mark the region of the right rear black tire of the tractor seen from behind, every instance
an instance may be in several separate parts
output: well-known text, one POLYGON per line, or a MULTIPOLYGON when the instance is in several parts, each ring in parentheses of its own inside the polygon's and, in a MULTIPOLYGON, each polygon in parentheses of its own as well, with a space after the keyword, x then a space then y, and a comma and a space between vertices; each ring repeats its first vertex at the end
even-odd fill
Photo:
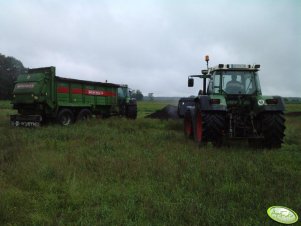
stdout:
POLYGON ((280 148, 283 143, 285 118, 283 112, 267 112, 262 115, 264 146, 280 148))

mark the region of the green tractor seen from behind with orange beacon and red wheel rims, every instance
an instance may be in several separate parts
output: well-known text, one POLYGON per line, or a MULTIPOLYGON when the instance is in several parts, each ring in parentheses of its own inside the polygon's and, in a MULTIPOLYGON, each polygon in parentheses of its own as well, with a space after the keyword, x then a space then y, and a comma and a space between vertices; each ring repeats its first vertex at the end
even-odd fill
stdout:
POLYGON ((221 146, 231 139, 248 139, 256 147, 280 148, 283 143, 284 102, 280 96, 263 96, 258 71, 260 65, 219 64, 202 75, 203 90, 186 107, 184 134, 199 145, 221 146), (207 80, 208 86, 206 85, 207 80), (206 89, 207 88, 207 89, 206 89))

